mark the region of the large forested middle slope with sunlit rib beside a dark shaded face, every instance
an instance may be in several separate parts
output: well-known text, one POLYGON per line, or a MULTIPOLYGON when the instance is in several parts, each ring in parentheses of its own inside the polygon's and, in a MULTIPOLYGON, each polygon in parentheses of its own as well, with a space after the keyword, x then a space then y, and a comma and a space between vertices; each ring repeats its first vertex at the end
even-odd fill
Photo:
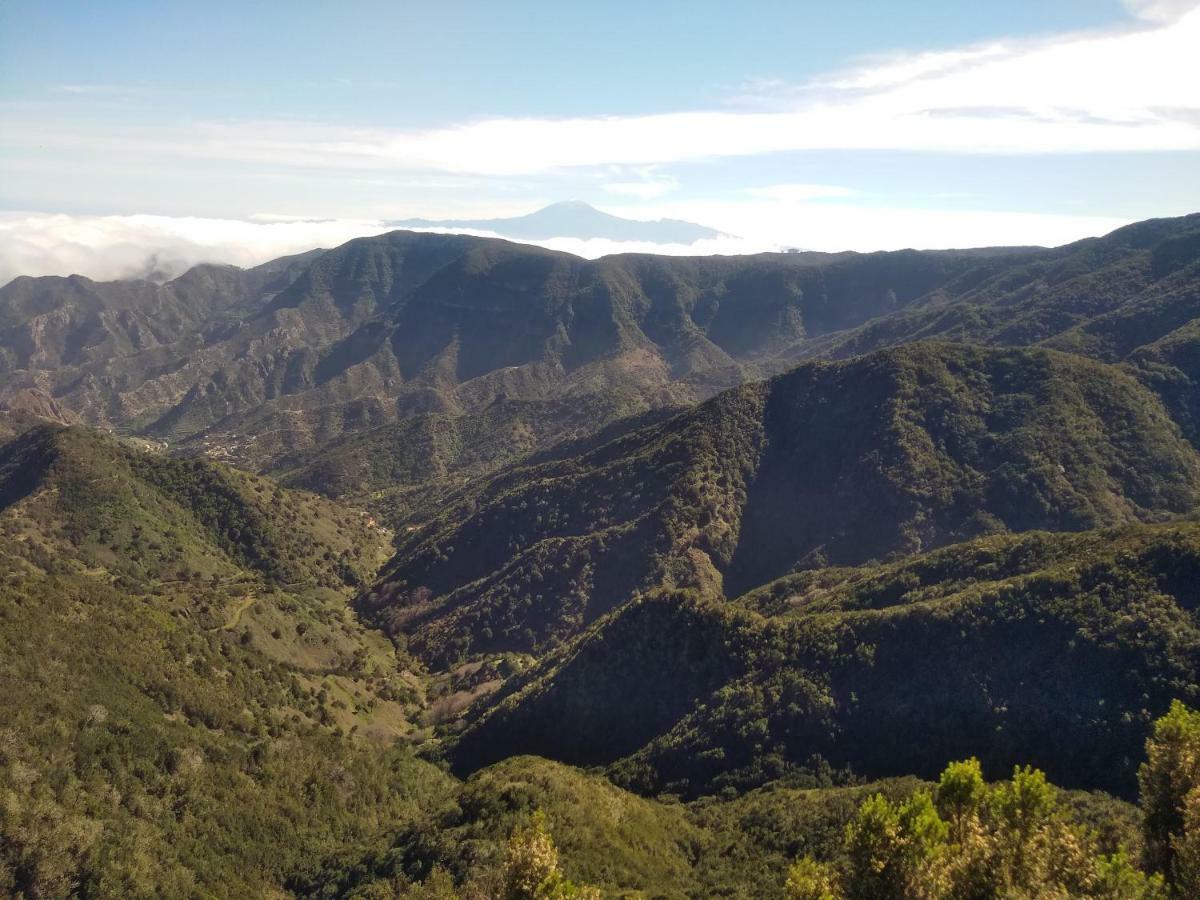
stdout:
POLYGON ((444 665, 552 647, 658 584, 732 595, 794 568, 1198 499, 1200 457, 1124 372, 916 344, 800 366, 468 486, 401 534, 360 608, 444 665))

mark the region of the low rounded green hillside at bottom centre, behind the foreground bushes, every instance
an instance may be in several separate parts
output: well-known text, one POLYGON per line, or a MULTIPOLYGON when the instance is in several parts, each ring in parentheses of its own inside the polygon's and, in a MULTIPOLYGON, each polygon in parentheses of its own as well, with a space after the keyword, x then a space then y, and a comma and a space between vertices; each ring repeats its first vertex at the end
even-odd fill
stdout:
MULTIPOLYGON (((457 896, 493 896, 487 875, 503 865, 505 838, 541 814, 565 874, 598 887, 602 896, 784 898, 797 858, 847 862, 845 828, 865 800, 878 794, 902 803, 929 787, 913 778, 848 786, 791 779, 737 799, 664 802, 568 766, 515 757, 462 782, 443 809, 400 830, 389 844, 330 860, 304 887, 325 895, 446 896, 446 882, 454 881, 462 886, 457 896), (438 871, 445 881, 438 881, 438 871), (403 893, 414 877, 428 893, 403 893)), ((1004 787, 1000 782, 994 790, 1004 787)), ((1096 852, 1124 847, 1138 856, 1140 816, 1132 804, 1061 792, 1057 806, 1062 832, 1082 829, 1084 844, 1096 852)))

